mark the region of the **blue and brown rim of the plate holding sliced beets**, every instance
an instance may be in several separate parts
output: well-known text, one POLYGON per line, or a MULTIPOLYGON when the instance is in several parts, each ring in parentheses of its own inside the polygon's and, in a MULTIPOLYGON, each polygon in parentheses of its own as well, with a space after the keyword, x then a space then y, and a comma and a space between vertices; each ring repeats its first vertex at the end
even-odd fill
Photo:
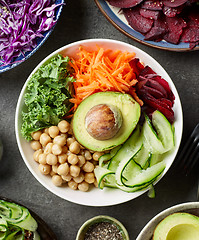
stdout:
MULTIPOLYGON (((106 19, 117 29, 119 30, 121 33, 123 33, 124 35, 126 35, 127 37, 133 39, 134 41, 138 42, 138 43, 141 43, 145 46, 148 46, 148 47, 152 47, 152 48, 156 48, 156 49, 160 49, 160 50, 164 50, 164 51, 171 51, 171 52, 191 52, 191 51, 196 51, 196 50, 199 50, 199 46, 196 46, 194 49, 190 49, 190 48, 180 48, 180 47, 174 47, 174 48, 171 48, 171 47, 164 47, 164 46, 159 46, 159 45, 156 45, 156 44, 153 44, 151 42, 153 41, 145 41, 145 40, 142 40, 142 39, 139 39, 138 37, 136 36, 133 36, 131 33, 129 33, 127 30, 123 29, 122 26, 120 26, 117 22, 118 20, 116 19, 113 19, 105 10, 104 8, 104 4, 107 4, 106 0, 95 0, 95 3, 96 5, 98 6, 99 10, 102 12, 102 14, 106 17, 106 19)), ((107 4, 108 6, 108 4, 107 4)), ((108 8, 110 8, 108 6, 108 8)), ((110 8, 110 11, 112 12, 112 9, 110 8)), ((115 13, 113 13, 115 15, 115 13)), ((115 15, 116 16, 116 15, 115 15)), ((116 16, 117 17, 117 16, 116 16)), ((121 21, 121 20, 120 20, 121 21)), ((122 22, 122 21, 121 21, 122 22)), ((126 24, 125 24, 126 25, 126 24)), ((130 26, 129 26, 130 27, 130 26)), ((132 27, 130 27, 132 28, 132 27)), ((133 28, 132 28, 133 29, 133 28)), ((134 30, 134 29, 133 29, 134 30)), ((136 30, 134 30, 135 32, 137 32, 136 30)), ((171 43, 169 43, 171 44, 171 43)), ((186 43, 184 43, 186 44, 186 43)), ((173 44, 174 45, 174 44, 173 44)), ((178 46, 178 45, 176 45, 178 46)))

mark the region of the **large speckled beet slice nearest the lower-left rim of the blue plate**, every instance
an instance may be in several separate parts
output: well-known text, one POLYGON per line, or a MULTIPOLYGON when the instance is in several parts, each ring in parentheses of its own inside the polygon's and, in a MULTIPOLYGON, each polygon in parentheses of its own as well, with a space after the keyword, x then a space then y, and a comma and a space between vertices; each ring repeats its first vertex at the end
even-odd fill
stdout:
POLYGON ((140 15, 140 7, 123 9, 124 16, 129 25, 140 33, 147 33, 153 26, 153 20, 140 15))

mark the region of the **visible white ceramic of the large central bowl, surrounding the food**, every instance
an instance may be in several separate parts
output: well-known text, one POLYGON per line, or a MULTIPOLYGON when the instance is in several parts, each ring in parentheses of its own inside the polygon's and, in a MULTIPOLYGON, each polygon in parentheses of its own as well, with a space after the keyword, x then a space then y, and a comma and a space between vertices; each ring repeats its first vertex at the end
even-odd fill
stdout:
MULTIPOLYGON (((69 45, 66 45, 49 56, 47 56, 39 65, 33 70, 33 72, 30 74, 30 76, 37 71, 37 69, 46 62, 49 58, 54 56, 55 54, 62 53, 64 55, 73 56, 77 53, 79 46, 85 46, 89 47, 91 50, 96 49, 97 46, 102 46, 105 49, 120 49, 122 51, 129 51, 129 52, 135 52, 136 57, 138 57, 141 62, 143 62, 146 65, 149 65, 157 74, 162 76, 170 85, 176 99, 175 104, 173 107, 173 110, 175 112, 175 134, 176 134, 176 145, 175 149, 166 157, 166 168, 162 174, 162 177, 165 175, 165 173, 170 168, 171 164, 173 163, 175 156, 177 154, 181 137, 182 137, 182 126, 183 126, 183 118, 182 118, 182 107, 180 103, 180 99, 177 93, 177 90, 170 79, 169 75, 166 73, 166 71, 161 67, 161 65, 153 59, 151 56, 149 56, 147 53, 143 52, 142 50, 116 40, 109 40, 109 39, 90 39, 90 40, 83 40, 75 43, 71 43, 69 45)), ((28 81, 30 80, 30 76, 27 79, 26 83, 23 86, 23 89, 20 93, 17 108, 16 108, 16 116, 15 116, 15 131, 16 131, 16 138, 17 138, 17 144, 19 146, 20 153, 23 157, 23 160, 31 173, 35 176, 35 178, 49 191, 53 192, 57 196, 82 205, 87 206, 109 206, 109 205, 115 205, 119 203, 123 203, 126 201, 129 201, 131 199, 134 199, 141 194, 143 194, 144 191, 139 191, 135 193, 127 193, 123 192, 118 189, 111 189, 111 188, 105 188, 104 190, 100 189, 92 189, 90 192, 81 192, 81 191, 74 191, 66 187, 56 187, 53 185, 53 183, 50 180, 50 177, 42 175, 38 170, 38 163, 36 163, 33 160, 33 150, 30 147, 30 143, 28 143, 21 135, 21 110, 24 105, 24 94, 26 90, 26 86, 28 81)))

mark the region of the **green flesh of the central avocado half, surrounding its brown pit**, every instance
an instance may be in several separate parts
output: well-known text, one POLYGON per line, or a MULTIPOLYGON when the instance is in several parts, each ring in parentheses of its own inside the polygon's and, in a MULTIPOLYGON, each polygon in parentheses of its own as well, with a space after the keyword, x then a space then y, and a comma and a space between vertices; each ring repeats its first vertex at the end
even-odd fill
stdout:
MULTIPOLYGON (((83 100, 77 107, 72 120, 73 133, 77 141, 84 147, 93 151, 105 151, 127 140, 139 121, 140 112, 140 105, 129 94, 119 92, 95 93, 83 100), (96 139, 89 134, 86 128, 88 112, 98 105, 107 105, 111 106, 112 109, 118 109, 119 114, 114 114, 122 119, 118 124, 118 131, 109 139, 96 139)), ((92 121, 95 121, 95 118, 92 121)))

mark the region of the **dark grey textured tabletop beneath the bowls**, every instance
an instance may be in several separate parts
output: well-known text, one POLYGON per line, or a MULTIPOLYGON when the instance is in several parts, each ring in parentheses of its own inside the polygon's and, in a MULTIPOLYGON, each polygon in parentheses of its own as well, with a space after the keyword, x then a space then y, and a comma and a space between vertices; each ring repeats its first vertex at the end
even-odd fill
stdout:
MULTIPOLYGON (((181 148, 199 119, 199 51, 175 53, 141 45, 124 36, 101 14, 94 1, 68 0, 47 42, 26 62, 0 74, 0 137, 4 155, 0 163, 0 195, 26 205, 40 215, 59 240, 73 240, 79 227, 95 215, 110 215, 136 239, 144 225, 163 209, 195 201, 197 176, 183 177, 171 168, 156 186, 156 198, 147 194, 112 207, 87 207, 48 192, 24 164, 16 144, 14 117, 21 88, 35 66, 54 50, 77 40, 112 38, 139 47, 154 57, 172 78, 181 98, 184 132, 181 148)), ((89 195, 88 195, 89 197, 89 195)))

